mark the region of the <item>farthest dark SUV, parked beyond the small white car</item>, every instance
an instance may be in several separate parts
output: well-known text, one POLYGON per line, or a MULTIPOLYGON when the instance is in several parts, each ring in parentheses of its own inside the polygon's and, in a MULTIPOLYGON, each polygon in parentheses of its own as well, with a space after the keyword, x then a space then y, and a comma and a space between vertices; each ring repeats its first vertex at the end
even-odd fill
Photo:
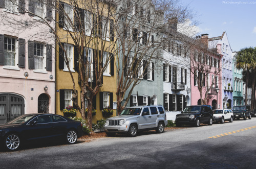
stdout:
POLYGON ((251 108, 248 105, 234 106, 233 114, 234 118, 237 118, 238 120, 240 118, 244 118, 244 120, 246 120, 247 117, 251 119, 251 108))

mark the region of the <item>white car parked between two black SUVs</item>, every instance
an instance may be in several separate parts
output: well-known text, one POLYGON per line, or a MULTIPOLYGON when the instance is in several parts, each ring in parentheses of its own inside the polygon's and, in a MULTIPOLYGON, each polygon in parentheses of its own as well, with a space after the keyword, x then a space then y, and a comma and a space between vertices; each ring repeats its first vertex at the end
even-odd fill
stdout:
POLYGON ((224 123, 225 121, 233 122, 233 112, 230 109, 216 109, 214 110, 214 120, 216 122, 224 123))

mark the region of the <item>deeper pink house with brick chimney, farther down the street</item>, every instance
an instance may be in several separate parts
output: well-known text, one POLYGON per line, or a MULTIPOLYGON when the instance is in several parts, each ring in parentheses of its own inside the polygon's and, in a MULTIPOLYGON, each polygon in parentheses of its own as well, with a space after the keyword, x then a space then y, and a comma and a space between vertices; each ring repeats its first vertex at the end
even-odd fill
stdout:
POLYGON ((208 34, 201 35, 196 41, 202 45, 196 45, 191 52, 191 105, 201 105, 201 99, 206 98, 205 104, 211 105, 212 109, 222 108, 220 46, 209 49, 208 34))

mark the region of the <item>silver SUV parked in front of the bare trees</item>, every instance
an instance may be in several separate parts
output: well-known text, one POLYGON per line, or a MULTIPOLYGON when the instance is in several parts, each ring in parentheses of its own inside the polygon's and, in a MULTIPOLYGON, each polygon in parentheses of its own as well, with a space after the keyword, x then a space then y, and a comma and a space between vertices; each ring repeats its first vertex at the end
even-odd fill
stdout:
POLYGON ((104 131, 108 136, 127 133, 135 137, 141 130, 163 133, 166 125, 166 114, 162 105, 133 106, 125 108, 118 116, 106 119, 104 131))

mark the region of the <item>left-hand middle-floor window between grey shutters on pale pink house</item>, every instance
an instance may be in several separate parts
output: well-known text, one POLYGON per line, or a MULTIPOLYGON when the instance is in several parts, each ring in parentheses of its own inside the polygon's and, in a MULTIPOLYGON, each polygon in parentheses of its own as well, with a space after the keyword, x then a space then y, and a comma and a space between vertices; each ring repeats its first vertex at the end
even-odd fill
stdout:
POLYGON ((4 37, 5 65, 15 66, 16 39, 4 37))

